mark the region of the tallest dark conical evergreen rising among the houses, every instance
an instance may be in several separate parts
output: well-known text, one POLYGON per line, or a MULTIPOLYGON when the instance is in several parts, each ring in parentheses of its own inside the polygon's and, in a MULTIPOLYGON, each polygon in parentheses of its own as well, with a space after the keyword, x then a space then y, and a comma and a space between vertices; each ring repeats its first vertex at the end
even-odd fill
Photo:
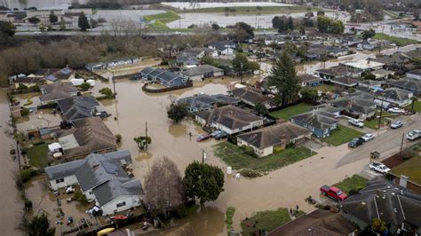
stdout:
POLYGON ((269 76, 269 85, 274 86, 278 90, 276 98, 282 106, 298 99, 300 85, 297 71, 286 51, 283 51, 281 57, 276 61, 274 67, 272 67, 272 75, 269 76))

